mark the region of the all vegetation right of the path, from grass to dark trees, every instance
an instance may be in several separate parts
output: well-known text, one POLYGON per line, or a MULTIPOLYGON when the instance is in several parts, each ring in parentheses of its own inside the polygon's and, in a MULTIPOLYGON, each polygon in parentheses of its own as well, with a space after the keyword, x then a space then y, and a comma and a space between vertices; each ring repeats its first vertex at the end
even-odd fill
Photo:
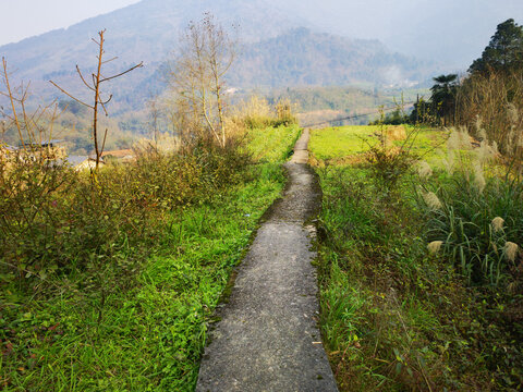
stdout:
POLYGON ((521 390, 522 49, 508 20, 412 113, 313 132, 320 324, 341 391, 521 390))

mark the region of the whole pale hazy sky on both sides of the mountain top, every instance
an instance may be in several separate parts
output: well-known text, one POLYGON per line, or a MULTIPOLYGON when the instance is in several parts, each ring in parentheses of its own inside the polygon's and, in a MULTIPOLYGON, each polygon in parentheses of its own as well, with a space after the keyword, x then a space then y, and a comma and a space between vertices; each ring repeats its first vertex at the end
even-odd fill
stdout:
MULTIPOLYGON (((481 56, 499 23, 512 17, 523 24, 523 0, 265 1, 321 30, 377 38, 402 53, 460 68, 481 56)), ((0 0, 0 10, 9 10, 0 14, 0 46, 135 2, 138 0, 0 0)))

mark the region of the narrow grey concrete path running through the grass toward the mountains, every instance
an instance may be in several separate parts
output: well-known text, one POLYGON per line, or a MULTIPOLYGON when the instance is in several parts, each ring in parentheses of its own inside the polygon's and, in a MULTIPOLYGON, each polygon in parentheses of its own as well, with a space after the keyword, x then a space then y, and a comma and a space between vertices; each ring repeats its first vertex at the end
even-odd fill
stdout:
POLYGON ((308 131, 285 163, 289 184, 238 271, 221 321, 211 332, 197 392, 338 391, 317 328, 317 280, 311 265, 320 204, 307 162, 308 131))

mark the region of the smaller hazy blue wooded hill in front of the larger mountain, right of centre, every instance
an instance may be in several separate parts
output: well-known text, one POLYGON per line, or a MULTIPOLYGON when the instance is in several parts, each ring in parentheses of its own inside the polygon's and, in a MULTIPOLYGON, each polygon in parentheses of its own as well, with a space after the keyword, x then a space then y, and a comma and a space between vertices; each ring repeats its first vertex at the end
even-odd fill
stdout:
POLYGON ((350 39, 305 27, 244 47, 230 75, 243 87, 415 85, 430 77, 434 62, 388 50, 380 41, 350 39))

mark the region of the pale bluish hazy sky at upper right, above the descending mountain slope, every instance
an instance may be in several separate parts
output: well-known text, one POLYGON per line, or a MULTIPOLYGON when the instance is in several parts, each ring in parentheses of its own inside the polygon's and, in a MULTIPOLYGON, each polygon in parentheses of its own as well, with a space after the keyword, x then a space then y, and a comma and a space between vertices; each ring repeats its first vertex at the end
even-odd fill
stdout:
POLYGON ((479 57, 499 23, 512 17, 523 24, 523 0, 275 1, 306 4, 300 9, 308 19, 321 13, 321 29, 378 38, 393 50, 451 66, 469 66, 479 57))

